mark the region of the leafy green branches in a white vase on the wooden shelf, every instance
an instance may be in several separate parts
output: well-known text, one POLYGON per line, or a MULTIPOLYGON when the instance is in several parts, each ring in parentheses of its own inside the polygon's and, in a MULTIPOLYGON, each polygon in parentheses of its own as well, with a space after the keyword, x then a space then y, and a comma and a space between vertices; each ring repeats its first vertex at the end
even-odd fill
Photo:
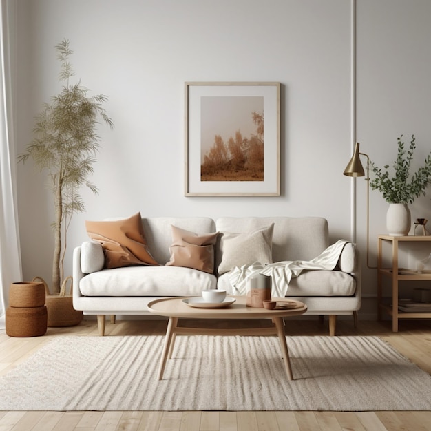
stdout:
POLYGON ((389 165, 383 167, 384 171, 370 160, 370 166, 375 178, 370 181, 370 187, 378 190, 383 199, 390 204, 386 216, 386 226, 390 235, 407 235, 410 231, 410 210, 416 198, 423 195, 431 184, 431 152, 425 158, 423 165, 414 174, 410 174, 410 165, 413 160, 416 138, 412 135, 410 147, 405 149, 401 135, 398 140, 397 159, 393 165, 393 174, 390 175, 389 165))

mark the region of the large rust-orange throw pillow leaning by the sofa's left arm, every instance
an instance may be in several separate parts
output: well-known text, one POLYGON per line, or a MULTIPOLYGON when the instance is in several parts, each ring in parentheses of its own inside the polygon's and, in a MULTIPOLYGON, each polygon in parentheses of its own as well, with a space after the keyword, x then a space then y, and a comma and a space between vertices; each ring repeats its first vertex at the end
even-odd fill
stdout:
POLYGON ((140 213, 121 220, 86 221, 85 227, 88 236, 102 244, 105 268, 158 265, 145 242, 140 213))

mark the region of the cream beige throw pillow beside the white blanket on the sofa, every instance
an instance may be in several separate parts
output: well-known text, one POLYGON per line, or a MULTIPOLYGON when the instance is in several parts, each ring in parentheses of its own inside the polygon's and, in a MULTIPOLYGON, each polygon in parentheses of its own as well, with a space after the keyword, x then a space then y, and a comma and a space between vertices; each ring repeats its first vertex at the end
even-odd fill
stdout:
POLYGON ((231 271, 234 266, 254 262, 273 263, 273 230, 274 224, 271 224, 271 226, 253 232, 221 233, 222 262, 218 266, 218 273, 221 275, 231 271))

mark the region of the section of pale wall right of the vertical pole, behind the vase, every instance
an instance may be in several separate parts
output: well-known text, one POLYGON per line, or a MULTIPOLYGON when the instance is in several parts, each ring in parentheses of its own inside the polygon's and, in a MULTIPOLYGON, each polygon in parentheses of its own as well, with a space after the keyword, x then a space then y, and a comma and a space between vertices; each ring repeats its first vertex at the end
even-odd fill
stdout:
MULTIPOLYGON (((430 17, 428 0, 357 1, 357 140, 361 151, 379 167, 393 165, 401 135, 406 148, 412 134, 417 138, 412 171, 431 150, 430 17)), ((366 182, 358 179, 357 185, 358 204, 365 203, 366 182)), ((409 205, 412 222, 422 217, 431 220, 430 191, 428 188, 427 197, 409 205)), ((370 264, 374 266, 377 235, 386 233, 387 208, 381 194, 370 191, 370 264)), ((364 253, 365 225, 364 207, 358 209, 359 246, 364 253)), ((410 234, 413 232, 411 229, 410 234)), ((412 267, 430 251, 428 246, 412 255, 401 253, 401 264, 412 267)), ((375 270, 364 275, 366 295, 375 295, 375 270)), ((421 283, 421 287, 430 286, 430 282, 421 283)), ((418 285, 410 283, 410 293, 412 286, 418 285)))

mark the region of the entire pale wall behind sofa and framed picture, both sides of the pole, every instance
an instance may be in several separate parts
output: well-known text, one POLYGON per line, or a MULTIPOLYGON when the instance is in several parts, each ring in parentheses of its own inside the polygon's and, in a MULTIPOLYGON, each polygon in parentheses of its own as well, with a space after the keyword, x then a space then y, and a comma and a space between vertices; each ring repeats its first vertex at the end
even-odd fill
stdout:
MULTIPOLYGON (((72 249, 85 220, 157 215, 320 215, 333 239, 350 238, 353 149, 350 124, 351 2, 346 0, 20 0, 17 2, 17 152, 31 139, 41 103, 59 92, 54 45, 70 40, 76 77, 105 106, 115 129, 100 128, 86 212, 70 226, 72 249), (184 196, 184 83, 282 84, 282 196, 184 196)), ((431 29, 426 0, 357 1, 357 137, 372 159, 391 162, 399 134, 430 149, 431 29), (402 66, 402 67, 400 67, 402 66), (388 157, 390 157, 388 159, 388 157)), ((365 202, 364 181, 357 200, 365 202)), ((384 233, 386 204, 372 195, 372 238, 384 233)), ((32 163, 19 166, 25 279, 50 280, 52 197, 32 163)), ((431 219, 429 199, 412 210, 431 219), (416 211, 416 208, 419 208, 416 211)), ((365 255, 365 213, 357 241, 365 255)), ((365 296, 375 273, 365 271, 365 296)), ((364 313, 374 313, 365 300, 364 313)))

